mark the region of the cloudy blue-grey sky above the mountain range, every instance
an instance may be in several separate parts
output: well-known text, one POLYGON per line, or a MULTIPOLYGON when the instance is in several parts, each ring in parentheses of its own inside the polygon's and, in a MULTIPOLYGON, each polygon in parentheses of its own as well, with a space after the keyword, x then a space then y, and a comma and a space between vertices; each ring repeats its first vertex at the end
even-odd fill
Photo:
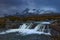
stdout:
POLYGON ((0 0, 0 16, 15 14, 25 8, 60 12, 60 0, 0 0))

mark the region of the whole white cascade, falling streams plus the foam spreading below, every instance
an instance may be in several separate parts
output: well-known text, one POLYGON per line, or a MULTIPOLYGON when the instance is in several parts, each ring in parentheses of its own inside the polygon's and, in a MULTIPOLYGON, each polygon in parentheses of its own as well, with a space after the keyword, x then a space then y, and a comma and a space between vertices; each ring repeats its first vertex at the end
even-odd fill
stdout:
POLYGON ((46 27, 44 24, 39 23, 34 29, 30 29, 30 27, 33 27, 32 24, 33 23, 30 23, 30 25, 26 24, 26 23, 23 23, 23 25, 21 25, 18 29, 6 30, 5 32, 0 32, 0 34, 19 32, 19 34, 22 34, 22 35, 29 35, 29 34, 45 34, 45 35, 50 35, 49 26, 47 26, 48 33, 46 33, 46 32, 44 32, 45 27, 46 27))

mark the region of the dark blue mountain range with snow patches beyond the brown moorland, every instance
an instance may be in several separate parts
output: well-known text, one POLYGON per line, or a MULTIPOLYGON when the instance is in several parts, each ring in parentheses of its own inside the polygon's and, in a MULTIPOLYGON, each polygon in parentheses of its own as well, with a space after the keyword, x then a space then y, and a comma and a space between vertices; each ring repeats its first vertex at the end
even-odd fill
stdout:
POLYGON ((27 16, 54 16, 54 15, 60 15, 60 13, 53 12, 51 10, 36 10, 36 9, 28 9, 26 8, 23 10, 21 13, 16 12, 13 15, 8 15, 8 16, 18 16, 18 17, 27 17, 27 16))

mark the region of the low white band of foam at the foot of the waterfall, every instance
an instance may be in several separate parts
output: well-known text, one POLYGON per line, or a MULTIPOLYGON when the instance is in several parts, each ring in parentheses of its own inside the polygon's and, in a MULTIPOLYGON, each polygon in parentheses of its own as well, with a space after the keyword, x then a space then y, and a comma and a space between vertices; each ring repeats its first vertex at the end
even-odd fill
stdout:
POLYGON ((22 35, 29 35, 29 34, 51 35, 50 33, 39 32, 39 31, 35 31, 34 29, 10 29, 5 32, 0 32, 0 34, 8 34, 8 33, 13 33, 13 32, 18 32, 22 35))

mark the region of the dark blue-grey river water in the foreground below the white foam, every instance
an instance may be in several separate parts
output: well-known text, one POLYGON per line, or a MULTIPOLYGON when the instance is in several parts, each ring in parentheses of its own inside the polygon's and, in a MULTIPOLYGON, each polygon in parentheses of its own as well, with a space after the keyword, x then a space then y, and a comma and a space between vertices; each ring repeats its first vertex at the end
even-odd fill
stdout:
POLYGON ((51 36, 42 35, 42 34, 21 36, 16 32, 16 33, 0 35, 0 40, 51 40, 51 36))

